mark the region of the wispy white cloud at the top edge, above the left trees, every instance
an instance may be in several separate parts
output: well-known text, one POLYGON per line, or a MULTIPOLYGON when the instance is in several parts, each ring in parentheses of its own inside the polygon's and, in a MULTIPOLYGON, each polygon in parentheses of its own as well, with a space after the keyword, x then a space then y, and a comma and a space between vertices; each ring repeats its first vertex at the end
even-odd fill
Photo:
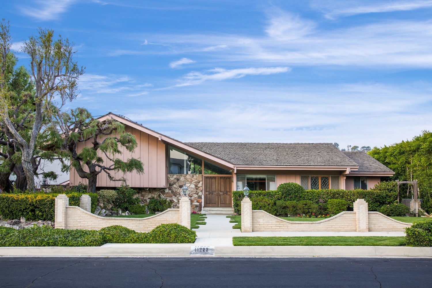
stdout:
POLYGON ((57 19, 76 0, 35 0, 32 6, 19 4, 18 9, 24 15, 36 18, 40 21, 57 19))

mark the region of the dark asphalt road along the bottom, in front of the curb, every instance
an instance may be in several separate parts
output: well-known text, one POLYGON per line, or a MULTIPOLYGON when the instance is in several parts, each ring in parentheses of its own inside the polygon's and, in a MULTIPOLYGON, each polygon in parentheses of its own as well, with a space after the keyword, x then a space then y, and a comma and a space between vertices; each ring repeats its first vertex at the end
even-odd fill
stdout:
POLYGON ((0 258, 0 287, 431 287, 430 258, 0 258))

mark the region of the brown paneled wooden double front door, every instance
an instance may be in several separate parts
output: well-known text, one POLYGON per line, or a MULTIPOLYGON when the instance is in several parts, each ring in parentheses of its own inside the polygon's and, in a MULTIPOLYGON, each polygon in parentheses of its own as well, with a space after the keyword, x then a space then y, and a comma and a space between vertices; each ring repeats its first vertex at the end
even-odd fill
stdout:
POLYGON ((231 176, 204 176, 205 207, 232 207, 231 201, 231 176))

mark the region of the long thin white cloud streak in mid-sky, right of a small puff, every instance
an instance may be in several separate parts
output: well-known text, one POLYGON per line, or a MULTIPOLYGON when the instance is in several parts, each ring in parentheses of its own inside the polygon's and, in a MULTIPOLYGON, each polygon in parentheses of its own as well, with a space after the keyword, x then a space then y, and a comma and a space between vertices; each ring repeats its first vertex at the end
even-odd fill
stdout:
POLYGON ((263 68, 241 68, 226 70, 222 68, 215 68, 212 70, 205 70, 203 72, 187 73, 181 79, 179 84, 175 87, 189 86, 201 84, 204 81, 222 81, 227 79, 241 78, 246 75, 270 75, 276 73, 289 72, 289 67, 263 67, 263 68))

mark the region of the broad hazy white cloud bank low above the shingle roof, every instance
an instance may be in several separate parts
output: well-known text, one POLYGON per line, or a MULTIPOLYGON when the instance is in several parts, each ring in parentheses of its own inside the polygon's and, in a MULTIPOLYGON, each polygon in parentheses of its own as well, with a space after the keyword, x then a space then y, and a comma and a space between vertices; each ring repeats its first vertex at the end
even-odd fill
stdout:
POLYGON ((158 105, 151 114, 148 108, 135 109, 127 117, 184 142, 338 142, 342 148, 391 145, 432 128, 430 85, 235 87, 215 84, 195 95, 191 95, 194 90, 178 92, 172 97, 184 99, 184 106, 158 105), (195 105, 186 95, 193 97, 195 105), (205 102, 212 98, 218 101, 205 102), (206 117, 200 118, 198 127, 195 117, 179 118, 179 110, 206 117), (188 128, 192 126, 194 133, 188 128))

